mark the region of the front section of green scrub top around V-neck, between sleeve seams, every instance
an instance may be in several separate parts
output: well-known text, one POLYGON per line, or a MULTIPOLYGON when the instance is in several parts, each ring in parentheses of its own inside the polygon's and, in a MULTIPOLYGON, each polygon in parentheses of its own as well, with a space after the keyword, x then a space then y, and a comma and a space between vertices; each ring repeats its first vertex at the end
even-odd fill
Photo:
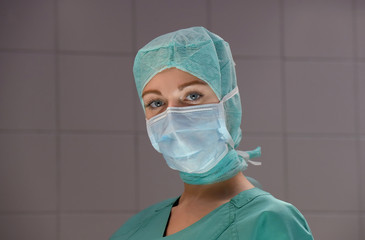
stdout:
POLYGON ((267 194, 257 188, 245 190, 192 225, 180 230, 179 232, 164 237, 163 235, 171 214, 171 209, 174 203, 180 198, 178 197, 171 201, 168 205, 156 209, 155 217, 149 219, 147 226, 140 230, 144 233, 148 233, 147 235, 142 233, 142 235, 149 236, 149 239, 151 240, 217 239, 219 235, 228 229, 234 222, 236 207, 243 206, 245 203, 248 203, 253 198, 263 193, 267 194), (204 229, 204 231, 202 231, 202 229, 204 229), (202 234, 201 238, 199 238, 200 234, 202 234))

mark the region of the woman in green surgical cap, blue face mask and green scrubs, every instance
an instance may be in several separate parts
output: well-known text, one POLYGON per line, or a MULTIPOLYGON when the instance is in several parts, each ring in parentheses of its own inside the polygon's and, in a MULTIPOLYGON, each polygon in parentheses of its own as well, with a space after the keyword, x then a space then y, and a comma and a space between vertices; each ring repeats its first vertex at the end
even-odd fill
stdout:
POLYGON ((227 42, 203 27, 162 35, 134 64, 148 136, 180 172, 181 196, 127 221, 111 240, 310 240, 291 204, 254 187, 243 175, 260 148, 236 150, 241 102, 227 42))

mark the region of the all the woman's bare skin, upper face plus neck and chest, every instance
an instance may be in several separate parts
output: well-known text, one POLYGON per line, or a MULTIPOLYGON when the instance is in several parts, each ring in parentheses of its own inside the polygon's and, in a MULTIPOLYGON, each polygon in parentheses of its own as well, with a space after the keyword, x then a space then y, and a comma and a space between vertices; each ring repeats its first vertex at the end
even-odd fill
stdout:
MULTIPOLYGON (((207 83, 176 68, 156 74, 144 88, 142 98, 147 119, 164 112, 168 107, 219 102, 207 83)), ((240 192, 253 187, 242 172, 226 181, 208 185, 184 183, 179 204, 171 209, 166 235, 183 230, 240 192)))

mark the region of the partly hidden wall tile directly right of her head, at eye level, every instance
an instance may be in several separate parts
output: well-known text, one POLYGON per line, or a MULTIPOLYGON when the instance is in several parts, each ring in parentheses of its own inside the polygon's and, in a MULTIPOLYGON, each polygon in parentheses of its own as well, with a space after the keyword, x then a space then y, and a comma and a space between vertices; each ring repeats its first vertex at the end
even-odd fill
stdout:
POLYGON ((243 131, 282 131, 279 61, 235 60, 243 108, 243 131))

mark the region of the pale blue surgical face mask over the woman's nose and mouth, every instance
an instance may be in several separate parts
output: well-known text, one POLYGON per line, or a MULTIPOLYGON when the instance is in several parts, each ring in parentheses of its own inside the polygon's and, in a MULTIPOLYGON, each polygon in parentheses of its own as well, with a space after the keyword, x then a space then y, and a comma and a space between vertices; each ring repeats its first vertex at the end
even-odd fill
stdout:
POLYGON ((184 173, 205 173, 234 148, 223 103, 237 93, 235 88, 215 104, 169 107, 147 120, 151 143, 170 168, 184 173))

